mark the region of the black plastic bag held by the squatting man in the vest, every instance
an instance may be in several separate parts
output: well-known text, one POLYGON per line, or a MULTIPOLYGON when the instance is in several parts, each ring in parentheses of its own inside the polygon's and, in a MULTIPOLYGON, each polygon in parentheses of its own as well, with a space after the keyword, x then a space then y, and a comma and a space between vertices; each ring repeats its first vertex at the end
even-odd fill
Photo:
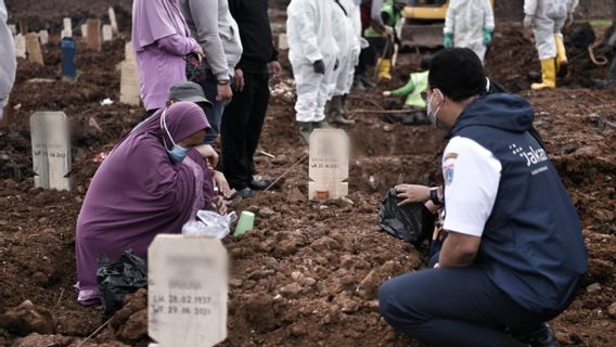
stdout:
POLYGON ((392 235, 419 246, 434 231, 435 216, 422 203, 398 206, 390 189, 378 211, 378 226, 392 235))

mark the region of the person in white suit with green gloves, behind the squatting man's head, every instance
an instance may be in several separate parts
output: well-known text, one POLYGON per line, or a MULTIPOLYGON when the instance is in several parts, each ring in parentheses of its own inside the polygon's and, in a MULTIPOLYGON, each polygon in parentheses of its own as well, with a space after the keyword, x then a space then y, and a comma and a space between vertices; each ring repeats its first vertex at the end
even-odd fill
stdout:
POLYGON ((495 13, 490 0, 451 0, 445 17, 445 48, 471 49, 482 63, 492 42, 495 13))

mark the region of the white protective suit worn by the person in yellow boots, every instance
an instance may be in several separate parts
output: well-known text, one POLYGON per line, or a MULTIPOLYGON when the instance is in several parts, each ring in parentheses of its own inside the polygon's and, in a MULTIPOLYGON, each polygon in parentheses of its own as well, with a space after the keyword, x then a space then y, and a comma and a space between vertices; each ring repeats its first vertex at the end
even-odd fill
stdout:
POLYGON ((532 16, 532 34, 539 60, 556 56, 554 35, 562 37, 561 30, 567 14, 572 14, 577 4, 578 0, 524 0, 524 14, 532 16))

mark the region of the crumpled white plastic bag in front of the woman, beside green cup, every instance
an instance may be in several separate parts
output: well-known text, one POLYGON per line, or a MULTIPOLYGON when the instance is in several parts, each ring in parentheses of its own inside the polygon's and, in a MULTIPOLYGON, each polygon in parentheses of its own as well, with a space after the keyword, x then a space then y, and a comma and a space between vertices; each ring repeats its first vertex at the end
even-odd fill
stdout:
POLYGON ((182 234, 224 239, 231 232, 231 224, 238 220, 235 213, 221 216, 211 210, 196 213, 200 220, 191 220, 182 227, 182 234))

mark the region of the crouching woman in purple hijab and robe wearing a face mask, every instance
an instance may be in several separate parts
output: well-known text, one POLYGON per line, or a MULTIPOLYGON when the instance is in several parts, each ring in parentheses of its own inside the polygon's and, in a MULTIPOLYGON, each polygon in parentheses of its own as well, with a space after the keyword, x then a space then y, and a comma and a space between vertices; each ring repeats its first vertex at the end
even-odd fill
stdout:
POLYGON ((178 102, 124 138, 94 174, 77 219, 79 303, 98 301, 98 258, 116 260, 128 248, 145 258, 159 233, 180 233, 198 209, 210 209, 207 164, 192 149, 209 124, 203 110, 178 102))

